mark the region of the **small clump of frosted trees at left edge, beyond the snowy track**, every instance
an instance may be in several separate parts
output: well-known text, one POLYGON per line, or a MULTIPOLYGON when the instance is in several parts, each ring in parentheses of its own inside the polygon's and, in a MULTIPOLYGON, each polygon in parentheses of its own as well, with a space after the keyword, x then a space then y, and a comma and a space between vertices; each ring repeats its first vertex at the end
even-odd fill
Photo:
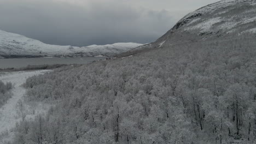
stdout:
POLYGON ((10 82, 4 83, 0 81, 0 108, 3 106, 9 98, 11 98, 10 90, 13 88, 13 84, 10 82))

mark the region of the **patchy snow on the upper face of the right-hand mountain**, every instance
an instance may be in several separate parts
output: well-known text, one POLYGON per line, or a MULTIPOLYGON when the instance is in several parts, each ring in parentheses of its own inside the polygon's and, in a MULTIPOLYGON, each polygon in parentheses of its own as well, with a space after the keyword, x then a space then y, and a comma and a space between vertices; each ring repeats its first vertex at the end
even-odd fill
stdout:
POLYGON ((255 4, 256 1, 252 0, 224 0, 209 4, 184 16, 172 30, 184 29, 187 32, 196 30, 199 34, 234 32, 233 28, 237 30, 242 25, 256 21, 255 4), (232 15, 234 11, 240 13, 232 15))

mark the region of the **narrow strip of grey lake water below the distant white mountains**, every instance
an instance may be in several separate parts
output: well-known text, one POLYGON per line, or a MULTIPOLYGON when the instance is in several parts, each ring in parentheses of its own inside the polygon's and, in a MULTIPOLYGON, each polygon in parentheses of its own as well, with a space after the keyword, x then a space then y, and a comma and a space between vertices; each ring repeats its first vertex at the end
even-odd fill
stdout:
POLYGON ((86 64, 92 61, 106 59, 106 57, 43 57, 43 58, 7 58, 0 59, 0 69, 4 68, 22 68, 27 65, 43 65, 43 64, 86 64))

